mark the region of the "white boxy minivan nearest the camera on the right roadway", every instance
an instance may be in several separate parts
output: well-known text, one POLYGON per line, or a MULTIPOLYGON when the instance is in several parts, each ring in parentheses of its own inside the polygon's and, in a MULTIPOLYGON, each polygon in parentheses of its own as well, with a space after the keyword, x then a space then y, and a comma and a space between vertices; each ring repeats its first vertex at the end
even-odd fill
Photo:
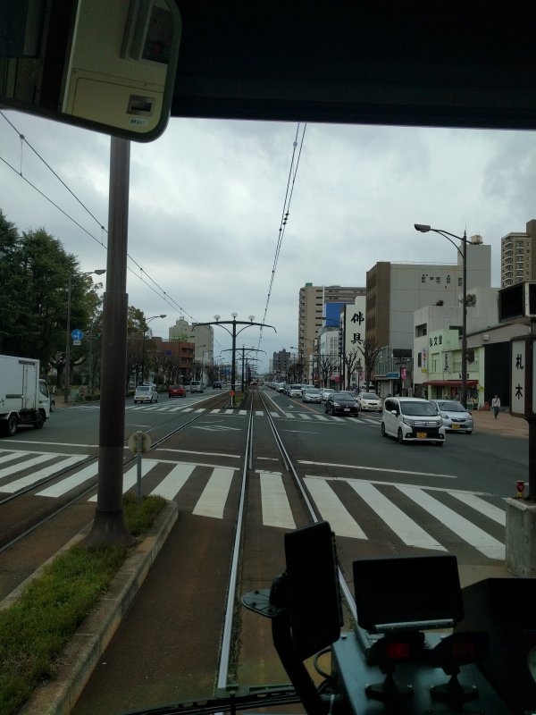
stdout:
POLYGON ((406 442, 445 442, 445 427, 430 400, 416 397, 389 397, 383 401, 381 434, 406 442))

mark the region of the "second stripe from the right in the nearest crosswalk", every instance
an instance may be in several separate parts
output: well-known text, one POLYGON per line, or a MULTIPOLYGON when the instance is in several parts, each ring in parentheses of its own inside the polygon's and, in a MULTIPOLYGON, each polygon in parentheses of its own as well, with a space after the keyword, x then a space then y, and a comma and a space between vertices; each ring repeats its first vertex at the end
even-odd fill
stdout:
POLYGON ((442 524, 447 526, 450 531, 454 532, 456 536, 463 539, 466 543, 469 543, 477 551, 480 551, 484 556, 489 559, 501 559, 504 560, 506 556, 505 544, 500 543, 493 536, 487 534, 478 526, 462 517, 460 514, 456 514, 453 509, 448 509, 434 499, 430 494, 419 489, 418 487, 398 487, 400 492, 406 494, 406 496, 415 501, 422 509, 425 509, 432 517, 436 517, 440 520, 442 524))

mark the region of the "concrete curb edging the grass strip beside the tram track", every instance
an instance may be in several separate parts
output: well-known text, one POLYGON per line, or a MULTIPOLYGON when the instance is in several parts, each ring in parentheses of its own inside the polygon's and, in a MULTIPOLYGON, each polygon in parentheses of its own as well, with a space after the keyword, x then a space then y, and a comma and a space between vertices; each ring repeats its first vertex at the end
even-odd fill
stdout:
MULTIPOLYGON (((177 521, 178 513, 179 508, 174 501, 168 502, 163 508, 143 542, 138 543, 114 576, 110 589, 59 655, 54 680, 38 686, 22 706, 19 715, 69 715, 145 581, 149 568, 177 521)), ((83 534, 75 536, 58 554, 78 543, 82 537, 83 534)), ((29 576, 24 584, 38 576, 40 571, 38 569, 35 575, 29 576)), ((24 584, 2 601, 0 608, 9 606, 24 584), (6 601, 9 602, 6 604, 6 601)))

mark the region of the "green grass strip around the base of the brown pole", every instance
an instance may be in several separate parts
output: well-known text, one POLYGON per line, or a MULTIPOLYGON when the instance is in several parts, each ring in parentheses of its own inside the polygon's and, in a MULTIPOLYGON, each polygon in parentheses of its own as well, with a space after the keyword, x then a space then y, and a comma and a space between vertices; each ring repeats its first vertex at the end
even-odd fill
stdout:
MULTIPOLYGON (((163 509, 161 497, 141 501, 127 494, 124 516, 139 540, 163 509)), ((0 712, 16 715, 43 680, 54 677, 54 660, 95 606, 129 554, 121 544, 78 544, 54 559, 21 599, 0 611, 0 712)))

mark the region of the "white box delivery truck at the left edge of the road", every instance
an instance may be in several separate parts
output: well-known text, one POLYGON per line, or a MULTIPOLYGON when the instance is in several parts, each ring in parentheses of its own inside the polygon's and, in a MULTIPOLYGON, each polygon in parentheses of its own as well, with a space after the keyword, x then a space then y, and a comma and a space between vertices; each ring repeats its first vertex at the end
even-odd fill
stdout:
POLYGON ((49 416, 50 394, 39 378, 39 361, 0 355, 0 433, 13 437, 19 425, 41 429, 49 416))

